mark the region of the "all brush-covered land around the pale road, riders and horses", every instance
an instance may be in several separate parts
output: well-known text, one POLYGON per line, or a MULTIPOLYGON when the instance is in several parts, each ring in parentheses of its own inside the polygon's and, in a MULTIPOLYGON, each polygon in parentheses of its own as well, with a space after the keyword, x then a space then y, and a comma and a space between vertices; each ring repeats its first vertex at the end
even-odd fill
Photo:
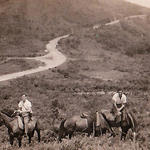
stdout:
MULTIPOLYGON (((28 145, 24 138, 22 150, 150 149, 149 9, 119 0, 0 0, 0 4, 0 74, 36 67, 35 62, 7 57, 43 55, 47 41, 71 33, 58 45, 68 57, 66 63, 0 84, 0 109, 17 109, 21 95, 27 94, 41 123, 41 143, 35 136, 28 145), (147 17, 123 19, 140 14, 147 17), (115 19, 120 23, 104 25, 115 19), (95 24, 102 26, 93 30, 95 24), (127 94, 138 122, 135 144, 130 132, 126 141, 120 141, 117 129, 115 138, 75 135, 62 143, 56 141, 53 119, 110 109, 111 93, 118 88, 127 94)), ((0 149, 18 149, 16 142, 9 145, 4 126, 0 135, 0 149)))

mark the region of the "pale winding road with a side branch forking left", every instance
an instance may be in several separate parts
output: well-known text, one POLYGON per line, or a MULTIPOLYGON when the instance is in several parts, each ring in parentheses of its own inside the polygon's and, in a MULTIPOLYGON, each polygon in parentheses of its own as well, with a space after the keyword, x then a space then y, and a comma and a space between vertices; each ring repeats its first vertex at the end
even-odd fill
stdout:
POLYGON ((51 40, 46 45, 46 49, 48 51, 47 55, 40 56, 40 57, 25 58, 25 59, 33 59, 36 61, 41 61, 41 62, 45 63, 44 66, 40 66, 38 68, 34 68, 34 69, 26 70, 26 71, 2 75, 2 76, 0 76, 0 81, 7 81, 7 80, 22 77, 24 75, 29 75, 29 74, 45 71, 45 70, 48 70, 49 68, 54 68, 54 67, 57 67, 57 66, 63 64, 66 61, 66 57, 57 50, 56 46, 60 39, 67 38, 68 36, 69 35, 65 35, 65 36, 61 36, 61 37, 51 40))

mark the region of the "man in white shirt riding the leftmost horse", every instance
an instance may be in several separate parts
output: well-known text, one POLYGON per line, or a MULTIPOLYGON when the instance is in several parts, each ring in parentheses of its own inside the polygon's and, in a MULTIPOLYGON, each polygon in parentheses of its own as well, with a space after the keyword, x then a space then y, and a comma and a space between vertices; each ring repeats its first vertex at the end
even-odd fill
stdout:
POLYGON ((18 104, 19 110, 18 112, 21 114, 24 120, 24 126, 25 126, 25 135, 28 133, 28 122, 30 121, 32 117, 32 104, 27 99, 26 95, 22 95, 22 99, 18 104))

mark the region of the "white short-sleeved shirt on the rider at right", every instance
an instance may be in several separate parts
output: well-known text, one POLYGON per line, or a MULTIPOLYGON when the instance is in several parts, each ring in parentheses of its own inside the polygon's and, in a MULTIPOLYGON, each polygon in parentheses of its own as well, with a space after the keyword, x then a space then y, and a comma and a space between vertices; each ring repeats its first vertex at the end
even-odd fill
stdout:
POLYGON ((127 97, 125 96, 125 94, 122 94, 122 97, 119 97, 119 93, 114 94, 114 96, 112 97, 112 100, 116 103, 116 104, 125 104, 127 103, 127 97))

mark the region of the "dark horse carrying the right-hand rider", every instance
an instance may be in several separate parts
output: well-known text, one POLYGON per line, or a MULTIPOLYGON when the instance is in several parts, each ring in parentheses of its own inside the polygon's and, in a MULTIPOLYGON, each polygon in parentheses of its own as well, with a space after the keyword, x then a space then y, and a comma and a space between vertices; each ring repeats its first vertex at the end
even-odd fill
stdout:
POLYGON ((111 127, 121 127, 121 140, 125 140, 128 130, 131 129, 133 133, 133 140, 135 141, 137 122, 131 112, 124 109, 121 114, 118 115, 117 111, 111 113, 109 110, 103 110, 102 114, 111 127), (109 116, 113 116, 111 117, 113 119, 110 119, 109 116))

